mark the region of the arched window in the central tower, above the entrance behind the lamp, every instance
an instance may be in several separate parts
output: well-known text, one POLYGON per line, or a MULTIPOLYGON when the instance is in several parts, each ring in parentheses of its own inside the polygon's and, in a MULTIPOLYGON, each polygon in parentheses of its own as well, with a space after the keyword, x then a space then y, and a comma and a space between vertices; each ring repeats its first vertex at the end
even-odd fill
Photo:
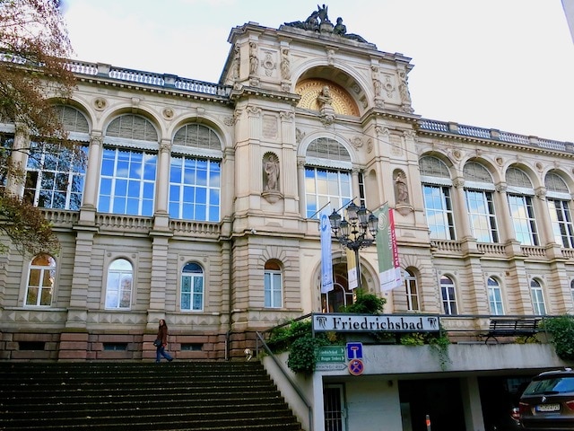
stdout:
POLYGON ((335 139, 319 137, 309 144, 306 163, 307 217, 318 217, 318 210, 329 202, 332 208, 341 208, 351 201, 352 163, 344 145, 335 139))

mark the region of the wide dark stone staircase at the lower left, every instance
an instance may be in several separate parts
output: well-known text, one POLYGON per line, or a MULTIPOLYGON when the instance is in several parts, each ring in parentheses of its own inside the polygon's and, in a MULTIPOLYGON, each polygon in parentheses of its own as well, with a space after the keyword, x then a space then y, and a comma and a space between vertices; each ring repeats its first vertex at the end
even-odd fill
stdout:
POLYGON ((0 362, 0 430, 302 431, 259 362, 0 362))

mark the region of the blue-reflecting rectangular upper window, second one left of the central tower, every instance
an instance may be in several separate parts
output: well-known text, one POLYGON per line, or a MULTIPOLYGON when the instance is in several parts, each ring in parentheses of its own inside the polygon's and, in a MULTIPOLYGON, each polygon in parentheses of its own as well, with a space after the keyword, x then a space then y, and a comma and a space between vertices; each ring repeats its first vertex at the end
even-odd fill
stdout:
POLYGON ((157 154, 104 148, 98 211, 153 216, 156 167, 157 154))

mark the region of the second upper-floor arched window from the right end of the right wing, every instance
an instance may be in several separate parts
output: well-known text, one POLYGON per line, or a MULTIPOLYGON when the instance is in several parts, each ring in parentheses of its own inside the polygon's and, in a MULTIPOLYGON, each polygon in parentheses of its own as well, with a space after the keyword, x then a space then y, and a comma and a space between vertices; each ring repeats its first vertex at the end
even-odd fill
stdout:
POLYGON ((525 172, 509 168, 506 172, 510 219, 517 241, 523 245, 539 245, 536 229, 535 207, 532 198, 535 190, 525 172))

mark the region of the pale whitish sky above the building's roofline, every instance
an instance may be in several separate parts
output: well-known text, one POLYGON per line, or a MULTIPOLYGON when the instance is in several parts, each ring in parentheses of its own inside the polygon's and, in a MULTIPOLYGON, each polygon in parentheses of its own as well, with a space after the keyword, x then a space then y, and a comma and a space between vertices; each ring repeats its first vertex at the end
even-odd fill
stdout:
MULTIPOLYGON (((386 52, 413 58, 416 114, 574 142, 574 44, 561 0, 331 0, 386 52)), ((75 58, 219 81, 233 27, 305 20, 317 2, 67 0, 75 58)))

